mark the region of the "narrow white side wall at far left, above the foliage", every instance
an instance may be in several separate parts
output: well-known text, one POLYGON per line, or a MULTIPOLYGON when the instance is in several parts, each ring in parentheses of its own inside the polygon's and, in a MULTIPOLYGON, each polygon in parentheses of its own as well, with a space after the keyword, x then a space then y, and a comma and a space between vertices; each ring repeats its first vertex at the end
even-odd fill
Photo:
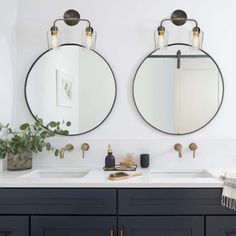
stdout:
POLYGON ((17 55, 16 20, 17 0, 5 1, 4 7, 0 8, 0 122, 4 124, 12 119, 13 80, 17 55))

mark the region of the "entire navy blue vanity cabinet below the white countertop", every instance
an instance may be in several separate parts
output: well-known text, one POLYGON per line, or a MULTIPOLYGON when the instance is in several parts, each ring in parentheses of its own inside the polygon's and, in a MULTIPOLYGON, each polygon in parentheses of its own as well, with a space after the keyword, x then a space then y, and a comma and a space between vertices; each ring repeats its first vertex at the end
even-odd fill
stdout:
POLYGON ((0 236, 236 236, 220 188, 0 188, 0 236))

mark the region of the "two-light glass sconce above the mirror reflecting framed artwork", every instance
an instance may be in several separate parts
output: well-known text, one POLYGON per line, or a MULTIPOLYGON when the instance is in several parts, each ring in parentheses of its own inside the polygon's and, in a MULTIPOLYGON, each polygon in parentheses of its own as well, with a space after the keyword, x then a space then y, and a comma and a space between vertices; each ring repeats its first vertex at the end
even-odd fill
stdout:
POLYGON ((85 31, 82 32, 82 45, 88 49, 95 49, 95 43, 97 38, 97 33, 91 27, 90 21, 88 19, 81 19, 79 12, 70 9, 64 13, 62 19, 56 19, 53 22, 53 26, 48 32, 48 47, 55 49, 61 45, 61 33, 56 26, 58 21, 64 21, 69 26, 77 25, 81 21, 87 22, 88 26, 85 31))

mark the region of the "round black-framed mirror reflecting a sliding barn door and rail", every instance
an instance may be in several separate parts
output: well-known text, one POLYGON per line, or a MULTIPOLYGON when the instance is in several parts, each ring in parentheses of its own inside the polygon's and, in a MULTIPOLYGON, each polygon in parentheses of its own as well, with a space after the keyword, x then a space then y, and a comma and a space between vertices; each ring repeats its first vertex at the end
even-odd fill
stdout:
POLYGON ((206 126, 219 111, 223 94, 216 62, 187 44, 172 44, 149 54, 133 82, 142 118, 168 134, 189 134, 206 126))

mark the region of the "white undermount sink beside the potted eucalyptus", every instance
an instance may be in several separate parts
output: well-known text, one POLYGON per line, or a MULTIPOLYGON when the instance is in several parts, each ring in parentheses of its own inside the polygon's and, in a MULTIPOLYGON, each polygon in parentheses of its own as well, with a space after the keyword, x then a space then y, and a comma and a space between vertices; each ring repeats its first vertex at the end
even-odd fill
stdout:
POLYGON ((20 176, 20 178, 83 178, 90 170, 88 169, 38 169, 20 176))

